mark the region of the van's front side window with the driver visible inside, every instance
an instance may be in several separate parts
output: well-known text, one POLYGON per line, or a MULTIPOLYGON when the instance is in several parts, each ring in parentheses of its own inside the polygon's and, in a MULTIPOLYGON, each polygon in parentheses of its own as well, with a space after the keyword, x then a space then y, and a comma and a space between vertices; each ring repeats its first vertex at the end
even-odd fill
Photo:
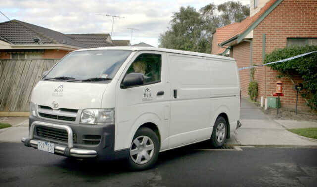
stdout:
POLYGON ((127 74, 141 73, 144 76, 144 84, 153 84, 161 80, 161 55, 141 54, 129 67, 127 74))

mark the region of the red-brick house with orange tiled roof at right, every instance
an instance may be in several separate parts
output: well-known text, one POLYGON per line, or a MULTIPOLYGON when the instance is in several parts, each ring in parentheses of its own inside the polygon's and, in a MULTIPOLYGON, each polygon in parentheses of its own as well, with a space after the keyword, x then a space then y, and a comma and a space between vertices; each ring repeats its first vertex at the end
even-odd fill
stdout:
MULTIPOLYGON (((265 54, 276 48, 317 44, 317 0, 250 0, 250 16, 236 26, 230 34, 217 29, 212 54, 224 55, 223 52, 230 49, 230 57, 236 59, 238 68, 262 64, 265 54), (219 41, 217 36, 221 35, 226 37, 219 41)), ((241 94, 248 97, 251 71, 241 70, 239 74, 241 94)), ((266 66, 256 68, 254 80, 258 82, 258 100, 261 96, 270 97, 276 90, 276 81, 281 80, 285 94, 281 97, 281 105, 294 108, 296 92, 292 85, 293 82, 301 83, 302 79, 296 76, 292 80, 277 79, 278 74, 266 66)), ((298 108, 309 110, 301 97, 298 108)))

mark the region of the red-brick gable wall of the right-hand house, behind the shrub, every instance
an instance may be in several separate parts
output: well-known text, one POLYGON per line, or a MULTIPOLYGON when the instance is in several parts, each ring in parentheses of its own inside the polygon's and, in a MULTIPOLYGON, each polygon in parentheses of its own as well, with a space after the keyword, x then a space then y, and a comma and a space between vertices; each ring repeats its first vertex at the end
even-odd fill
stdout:
MULTIPOLYGON (((284 0, 254 29, 253 33, 253 63, 262 64, 262 37, 266 34, 266 54, 276 48, 286 47, 287 38, 317 37, 317 1, 316 0, 284 0)), ((259 97, 269 97, 276 89, 276 81, 283 81, 281 97, 282 107, 294 108, 296 92, 292 90, 293 83, 286 78, 277 79, 279 73, 269 67, 257 68, 255 79, 259 82, 259 97)), ((244 77, 242 77, 244 78, 244 77)), ((294 82, 301 83, 299 77, 294 82)), ((309 110, 305 100, 299 97, 299 109, 309 110)))

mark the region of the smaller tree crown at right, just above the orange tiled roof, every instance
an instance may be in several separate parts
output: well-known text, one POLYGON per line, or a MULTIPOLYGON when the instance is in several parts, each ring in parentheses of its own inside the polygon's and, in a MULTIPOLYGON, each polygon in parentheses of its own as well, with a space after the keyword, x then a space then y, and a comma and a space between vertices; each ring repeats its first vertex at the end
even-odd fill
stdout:
POLYGON ((221 25, 224 26, 243 21, 250 14, 250 9, 241 2, 228 1, 218 5, 218 12, 221 13, 221 25))

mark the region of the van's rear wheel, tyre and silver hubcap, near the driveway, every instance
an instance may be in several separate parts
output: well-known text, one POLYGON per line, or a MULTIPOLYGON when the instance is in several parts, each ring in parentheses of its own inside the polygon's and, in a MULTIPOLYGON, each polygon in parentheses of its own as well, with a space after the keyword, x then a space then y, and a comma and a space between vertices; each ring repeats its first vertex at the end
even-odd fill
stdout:
POLYGON ((211 147, 222 147, 227 137, 227 122, 222 116, 218 116, 213 125, 211 135, 211 147))

